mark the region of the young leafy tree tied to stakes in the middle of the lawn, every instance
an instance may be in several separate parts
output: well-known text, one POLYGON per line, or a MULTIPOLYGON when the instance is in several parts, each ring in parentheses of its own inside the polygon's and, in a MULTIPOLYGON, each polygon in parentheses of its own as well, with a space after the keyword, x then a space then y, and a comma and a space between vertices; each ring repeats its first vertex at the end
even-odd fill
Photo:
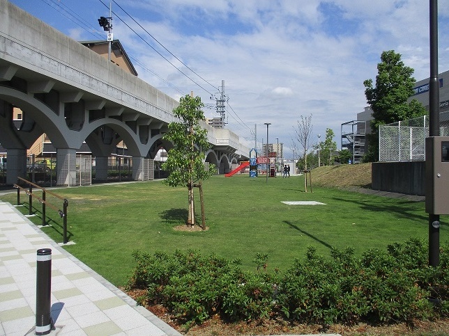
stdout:
POLYGON ((162 169, 169 171, 169 177, 163 183, 169 186, 187 185, 187 225, 195 225, 195 182, 208 179, 215 172, 213 166, 206 169, 204 165, 204 152, 208 150, 209 143, 207 130, 199 125, 200 120, 205 120, 201 111, 203 106, 200 97, 181 97, 179 106, 173 110, 173 114, 180 121, 170 122, 169 131, 164 136, 165 140, 173 143, 173 148, 168 152, 167 161, 162 164, 162 169))

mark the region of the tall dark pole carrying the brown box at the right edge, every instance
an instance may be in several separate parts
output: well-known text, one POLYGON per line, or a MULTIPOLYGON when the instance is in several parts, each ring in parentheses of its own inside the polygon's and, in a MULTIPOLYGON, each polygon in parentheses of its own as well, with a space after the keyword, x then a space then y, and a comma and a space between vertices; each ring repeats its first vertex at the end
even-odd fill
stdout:
MULTIPOLYGON (((438 80, 438 6, 430 1, 430 78, 429 78, 429 136, 440 136, 439 80, 438 80)), ((426 160, 433 160, 432 157, 426 160)), ((432 165, 434 167, 434 165, 432 165)), ((432 172, 432 176, 435 172, 432 172)), ((426 195, 426 197, 429 195, 426 195)), ((434 195, 430 195, 434 197, 434 195)), ((429 266, 439 266, 440 216, 429 214, 429 266)))

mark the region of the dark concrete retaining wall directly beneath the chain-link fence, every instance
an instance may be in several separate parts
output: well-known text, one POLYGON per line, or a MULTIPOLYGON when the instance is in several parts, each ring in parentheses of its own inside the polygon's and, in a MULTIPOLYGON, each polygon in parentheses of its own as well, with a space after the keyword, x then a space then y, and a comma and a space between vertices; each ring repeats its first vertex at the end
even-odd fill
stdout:
POLYGON ((372 189, 425 195, 425 162, 373 162, 371 166, 372 189))

